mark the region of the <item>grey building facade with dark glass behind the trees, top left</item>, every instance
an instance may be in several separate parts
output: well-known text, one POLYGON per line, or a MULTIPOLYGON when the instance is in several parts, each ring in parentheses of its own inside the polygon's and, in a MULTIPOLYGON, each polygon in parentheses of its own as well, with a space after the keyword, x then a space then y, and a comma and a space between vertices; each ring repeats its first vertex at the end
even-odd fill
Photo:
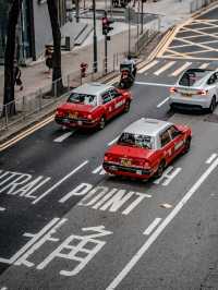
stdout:
MULTIPOLYGON (((66 22, 65 0, 57 0, 60 26, 66 22)), ((3 63, 10 1, 0 0, 0 60, 3 63)), ((52 43, 52 33, 46 0, 23 0, 16 33, 16 57, 21 63, 36 60, 45 45, 52 43)))

